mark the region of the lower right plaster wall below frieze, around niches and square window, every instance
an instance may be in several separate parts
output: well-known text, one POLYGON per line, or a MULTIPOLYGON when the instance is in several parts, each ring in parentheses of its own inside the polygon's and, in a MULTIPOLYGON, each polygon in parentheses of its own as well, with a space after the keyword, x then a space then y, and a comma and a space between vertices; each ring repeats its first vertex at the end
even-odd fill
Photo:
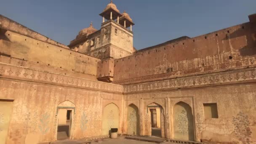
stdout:
MULTIPOLYGON (((157 85, 162 87, 160 83, 157 85)), ((147 105, 154 102, 164 109, 165 136, 171 139, 175 138, 173 128, 176 125, 173 123, 179 114, 173 113, 173 107, 179 101, 183 101, 192 108, 195 140, 234 144, 245 142, 248 138, 255 143, 255 88, 255 83, 247 83, 205 88, 147 89, 147 91, 127 93, 124 99, 139 104, 141 135, 149 135, 147 105), (205 120, 203 103, 217 103, 219 117, 205 120), (243 128, 246 131, 243 131, 243 128)))

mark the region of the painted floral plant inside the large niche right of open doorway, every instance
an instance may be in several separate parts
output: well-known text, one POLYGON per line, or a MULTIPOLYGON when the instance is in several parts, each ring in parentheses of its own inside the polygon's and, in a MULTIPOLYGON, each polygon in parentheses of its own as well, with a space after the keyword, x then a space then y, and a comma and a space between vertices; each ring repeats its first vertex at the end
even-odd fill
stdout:
POLYGON ((183 133, 183 136, 185 136, 185 134, 188 133, 189 120, 187 117, 187 113, 184 110, 182 110, 181 113, 178 115, 177 121, 179 122, 178 124, 179 132, 183 133))

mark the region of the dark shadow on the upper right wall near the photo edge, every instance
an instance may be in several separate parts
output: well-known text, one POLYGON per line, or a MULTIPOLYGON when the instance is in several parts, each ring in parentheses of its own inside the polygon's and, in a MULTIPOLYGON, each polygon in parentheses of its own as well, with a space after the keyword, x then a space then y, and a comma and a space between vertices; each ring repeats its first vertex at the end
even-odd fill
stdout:
POLYGON ((245 33, 246 29, 252 30, 249 26, 242 26, 240 29, 237 29, 235 32, 226 34, 226 38, 223 40, 235 39, 238 37, 246 36, 247 45, 240 48, 239 52, 241 56, 253 56, 256 55, 256 33, 245 33))

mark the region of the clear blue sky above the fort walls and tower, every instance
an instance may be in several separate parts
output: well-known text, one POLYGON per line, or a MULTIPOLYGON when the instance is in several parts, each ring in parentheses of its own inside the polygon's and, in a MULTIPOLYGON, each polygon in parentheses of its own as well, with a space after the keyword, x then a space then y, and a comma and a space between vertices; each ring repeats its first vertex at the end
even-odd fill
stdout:
MULTIPOLYGON (((133 45, 147 48, 181 37, 195 37, 249 21, 256 0, 113 0, 129 13, 133 45)), ((0 14, 68 45, 90 25, 99 29, 110 0, 0 0, 0 14)))

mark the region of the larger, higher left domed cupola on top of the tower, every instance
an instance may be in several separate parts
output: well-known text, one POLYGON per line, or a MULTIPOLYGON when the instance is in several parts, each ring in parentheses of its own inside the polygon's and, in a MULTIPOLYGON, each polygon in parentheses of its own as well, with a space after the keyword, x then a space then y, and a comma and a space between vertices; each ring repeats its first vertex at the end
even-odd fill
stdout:
POLYGON ((105 19, 117 19, 118 21, 119 17, 122 16, 120 11, 117 9, 117 6, 113 3, 113 0, 110 1, 110 3, 107 5, 104 11, 99 15, 103 17, 102 22, 105 22, 105 19))

